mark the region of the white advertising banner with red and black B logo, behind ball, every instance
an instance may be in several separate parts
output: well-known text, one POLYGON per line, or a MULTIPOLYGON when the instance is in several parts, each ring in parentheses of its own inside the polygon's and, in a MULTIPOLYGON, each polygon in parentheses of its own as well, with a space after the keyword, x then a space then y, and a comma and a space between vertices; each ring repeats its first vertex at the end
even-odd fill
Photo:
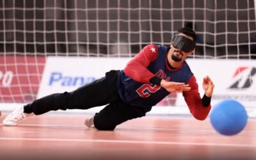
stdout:
MULTIPOLYGON (((256 116, 256 61, 250 60, 198 60, 188 59, 196 76, 201 96, 204 95, 202 80, 209 75, 215 84, 212 106, 223 99, 235 99, 256 116)), ((182 94, 178 94, 176 105, 186 106, 182 94)))

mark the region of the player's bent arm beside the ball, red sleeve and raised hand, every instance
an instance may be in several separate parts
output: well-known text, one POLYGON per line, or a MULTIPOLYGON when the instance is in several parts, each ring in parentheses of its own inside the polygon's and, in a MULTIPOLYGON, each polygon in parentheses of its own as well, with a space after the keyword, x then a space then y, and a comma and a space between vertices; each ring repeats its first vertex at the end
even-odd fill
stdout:
POLYGON ((209 76, 204 78, 203 88, 205 90, 205 94, 202 99, 198 92, 198 84, 196 83, 196 78, 194 75, 191 76, 188 84, 189 87, 191 87, 191 90, 183 92, 184 99, 195 119, 204 120, 211 110, 211 96, 214 89, 214 84, 209 76))

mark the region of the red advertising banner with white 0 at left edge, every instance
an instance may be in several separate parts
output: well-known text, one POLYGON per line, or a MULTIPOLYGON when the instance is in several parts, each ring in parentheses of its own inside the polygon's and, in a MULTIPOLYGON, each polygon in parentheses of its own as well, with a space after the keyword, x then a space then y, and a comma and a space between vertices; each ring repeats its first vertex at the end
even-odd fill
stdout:
POLYGON ((0 55, 0 103, 35 100, 45 56, 0 55))

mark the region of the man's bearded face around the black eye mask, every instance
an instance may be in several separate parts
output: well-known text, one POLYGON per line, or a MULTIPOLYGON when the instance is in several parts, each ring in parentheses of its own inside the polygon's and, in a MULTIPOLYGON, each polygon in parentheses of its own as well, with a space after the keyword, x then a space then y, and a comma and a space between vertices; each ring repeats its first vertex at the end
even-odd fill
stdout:
MULTIPOLYGON (((193 38, 191 38, 189 36, 186 36, 183 33, 179 33, 179 34, 177 34, 177 36, 185 36, 186 38, 189 38, 190 40, 193 41, 193 38)), ((180 50, 179 48, 173 47, 173 41, 171 41, 170 52, 171 52, 171 56, 172 56, 173 61, 180 62, 180 61, 184 61, 185 58, 188 57, 188 55, 193 54, 194 50, 191 50, 189 52, 184 52, 184 51, 180 50)))

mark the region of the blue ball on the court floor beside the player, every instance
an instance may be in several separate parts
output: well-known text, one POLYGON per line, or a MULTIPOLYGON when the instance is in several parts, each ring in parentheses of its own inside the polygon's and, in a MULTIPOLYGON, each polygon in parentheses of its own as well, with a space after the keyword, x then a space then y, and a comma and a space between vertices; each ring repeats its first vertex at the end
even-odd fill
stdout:
POLYGON ((211 124, 221 135, 236 135, 246 126, 248 115, 241 103, 227 99, 212 108, 211 124))

